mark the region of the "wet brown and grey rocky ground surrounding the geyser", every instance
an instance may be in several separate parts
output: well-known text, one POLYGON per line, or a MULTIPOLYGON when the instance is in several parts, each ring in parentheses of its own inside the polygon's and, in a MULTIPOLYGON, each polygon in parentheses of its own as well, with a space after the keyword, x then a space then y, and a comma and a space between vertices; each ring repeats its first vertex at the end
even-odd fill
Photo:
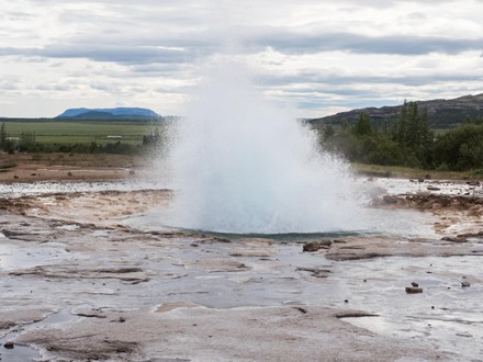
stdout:
POLYGON ((372 233, 292 236, 162 227, 141 183, 0 185, 0 359, 482 361, 481 185, 358 182, 372 233))

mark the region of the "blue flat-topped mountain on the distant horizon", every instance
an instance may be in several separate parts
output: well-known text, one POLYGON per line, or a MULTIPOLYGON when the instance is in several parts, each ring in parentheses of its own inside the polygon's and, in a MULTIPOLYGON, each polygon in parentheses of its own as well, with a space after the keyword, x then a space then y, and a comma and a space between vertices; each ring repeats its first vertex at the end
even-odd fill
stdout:
POLYGON ((69 109, 56 116, 61 120, 160 120, 161 116, 148 109, 115 108, 115 109, 69 109))

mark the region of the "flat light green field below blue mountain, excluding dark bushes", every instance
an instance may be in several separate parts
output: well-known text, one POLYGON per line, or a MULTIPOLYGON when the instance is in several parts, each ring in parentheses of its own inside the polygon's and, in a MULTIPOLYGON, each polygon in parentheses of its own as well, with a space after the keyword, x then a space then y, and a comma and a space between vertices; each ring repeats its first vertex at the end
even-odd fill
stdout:
POLYGON ((42 144, 108 144, 121 142, 138 145, 145 135, 159 131, 161 125, 147 122, 114 121, 32 121, 5 122, 5 131, 11 137, 20 137, 22 133, 34 133, 35 140, 42 144))

